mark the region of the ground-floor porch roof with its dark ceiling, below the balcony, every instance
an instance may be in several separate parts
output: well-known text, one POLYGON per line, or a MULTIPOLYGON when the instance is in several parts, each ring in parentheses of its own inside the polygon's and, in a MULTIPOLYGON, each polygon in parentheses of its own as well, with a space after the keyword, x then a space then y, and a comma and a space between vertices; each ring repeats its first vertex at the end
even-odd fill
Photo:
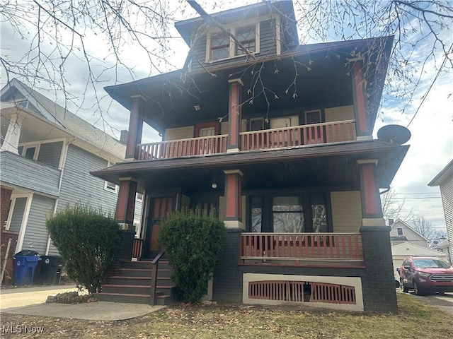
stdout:
POLYGON ((379 187, 389 186, 408 146, 382 141, 319 145, 272 151, 187 157, 167 160, 122 162, 92 172, 96 177, 119 183, 134 177, 144 189, 182 188, 183 191, 224 189, 224 170, 243 172, 242 189, 272 189, 316 186, 358 186, 357 160, 377 159, 379 187))

